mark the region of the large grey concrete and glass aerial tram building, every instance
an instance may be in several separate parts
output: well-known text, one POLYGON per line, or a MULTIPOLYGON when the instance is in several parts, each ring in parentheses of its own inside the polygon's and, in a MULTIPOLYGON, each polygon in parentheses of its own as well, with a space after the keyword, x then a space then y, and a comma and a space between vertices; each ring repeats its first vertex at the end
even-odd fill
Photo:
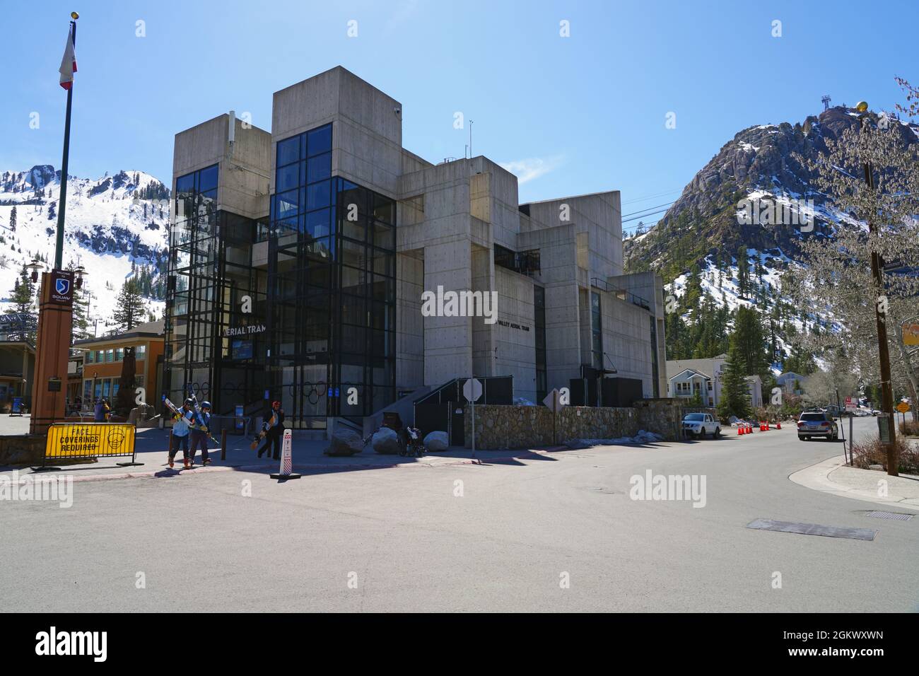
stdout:
POLYGON ((662 281, 623 274, 618 191, 520 204, 487 157, 403 148, 402 120, 336 67, 276 92, 271 132, 176 135, 165 389, 321 430, 473 373, 663 395, 662 281))

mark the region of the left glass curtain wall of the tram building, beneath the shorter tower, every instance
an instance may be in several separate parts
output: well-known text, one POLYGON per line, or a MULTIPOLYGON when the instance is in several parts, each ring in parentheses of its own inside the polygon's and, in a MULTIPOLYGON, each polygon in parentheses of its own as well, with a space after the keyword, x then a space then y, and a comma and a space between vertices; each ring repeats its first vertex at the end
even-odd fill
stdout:
POLYGON ((190 388, 226 414, 262 400, 267 384, 266 334, 226 330, 265 323, 267 271, 253 268, 252 245, 266 223, 217 211, 217 179, 217 165, 176 179, 164 390, 178 404, 190 388))

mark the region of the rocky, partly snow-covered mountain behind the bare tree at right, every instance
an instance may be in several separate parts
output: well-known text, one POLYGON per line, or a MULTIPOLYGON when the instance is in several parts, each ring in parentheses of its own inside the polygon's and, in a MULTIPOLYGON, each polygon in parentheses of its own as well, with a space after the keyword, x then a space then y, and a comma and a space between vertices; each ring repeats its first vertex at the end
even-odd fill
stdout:
MULTIPOLYGON (((902 144, 919 143, 919 126, 889 113, 869 115, 875 124, 890 125, 902 144)), ((659 223, 647 232, 627 235, 627 269, 661 274, 665 295, 677 301, 671 306, 686 324, 708 320, 691 309, 706 299, 716 309, 731 311, 719 315, 729 327, 738 307, 754 308, 774 331, 770 338, 777 352, 774 370, 779 371, 782 355, 791 351, 789 335, 815 325, 831 331, 839 326, 836 317, 789 306, 783 275, 790 271, 793 282, 795 267, 807 265, 800 255, 804 236, 832 236, 835 223, 853 222, 817 189, 816 173, 808 163, 826 153, 828 139, 838 139, 858 123, 856 111, 837 106, 803 123, 762 124, 738 132, 698 171, 659 223), (765 220, 755 212, 746 212, 755 213, 754 218, 742 217, 741 205, 758 209, 762 204, 773 210, 762 214, 765 220), (779 208, 787 210, 783 218, 776 217, 779 208), (690 289, 695 289, 698 301, 687 304, 690 289)), ((686 358, 684 352, 695 349, 691 340, 679 343, 672 338, 668 330, 668 356, 686 358)), ((723 346, 722 340, 720 350, 723 346)))

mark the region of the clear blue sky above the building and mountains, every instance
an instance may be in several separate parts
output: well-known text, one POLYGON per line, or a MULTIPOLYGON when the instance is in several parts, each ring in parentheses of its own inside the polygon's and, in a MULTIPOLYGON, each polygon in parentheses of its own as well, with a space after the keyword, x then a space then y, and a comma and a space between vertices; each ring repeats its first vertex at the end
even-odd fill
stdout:
POLYGON ((629 213, 675 199, 745 127, 801 121, 823 94, 891 109, 893 76, 919 81, 906 1, 10 3, 0 170, 61 164, 57 70, 74 8, 70 173, 88 178, 123 168, 168 182, 176 132, 229 109, 270 129, 274 91, 340 64, 402 102, 414 153, 461 157, 461 111, 475 155, 521 177, 521 201, 620 189, 629 213))

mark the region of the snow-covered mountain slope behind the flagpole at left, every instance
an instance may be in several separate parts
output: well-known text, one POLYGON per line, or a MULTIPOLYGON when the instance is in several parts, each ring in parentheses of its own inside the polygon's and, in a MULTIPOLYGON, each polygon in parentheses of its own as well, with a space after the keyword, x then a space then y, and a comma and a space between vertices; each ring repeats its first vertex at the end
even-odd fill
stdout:
MULTIPOLYGON (((61 172, 50 165, 0 173, 0 312, 23 264, 54 262, 60 190, 61 172)), ((162 181, 142 171, 68 178, 63 264, 88 273, 90 331, 96 319, 99 335, 114 327, 116 299, 132 275, 143 281, 148 310, 162 316, 156 296, 168 255, 168 197, 162 181)))

